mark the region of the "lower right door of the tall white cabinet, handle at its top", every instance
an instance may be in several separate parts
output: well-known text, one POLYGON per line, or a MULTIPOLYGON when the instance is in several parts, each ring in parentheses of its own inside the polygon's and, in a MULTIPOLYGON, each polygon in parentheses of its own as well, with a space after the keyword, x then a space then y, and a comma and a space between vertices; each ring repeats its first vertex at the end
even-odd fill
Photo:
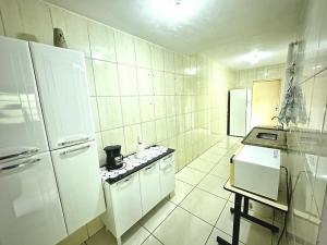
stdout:
POLYGON ((105 211, 95 142, 51 151, 69 234, 105 211))

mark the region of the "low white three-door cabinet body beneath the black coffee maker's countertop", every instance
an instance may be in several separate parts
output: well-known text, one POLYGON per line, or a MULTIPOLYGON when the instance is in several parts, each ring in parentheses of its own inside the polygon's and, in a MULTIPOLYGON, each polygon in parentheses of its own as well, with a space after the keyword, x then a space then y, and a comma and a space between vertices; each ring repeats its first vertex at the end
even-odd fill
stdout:
POLYGON ((106 228, 121 243, 121 235, 174 189, 174 155, 109 184, 104 183, 107 210, 106 228))

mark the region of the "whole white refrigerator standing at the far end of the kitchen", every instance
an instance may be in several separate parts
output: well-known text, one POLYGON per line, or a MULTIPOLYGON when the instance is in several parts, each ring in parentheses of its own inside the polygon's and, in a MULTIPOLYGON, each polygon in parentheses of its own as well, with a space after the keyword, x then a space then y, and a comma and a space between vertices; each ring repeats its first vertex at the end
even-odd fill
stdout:
POLYGON ((229 90, 228 135, 244 137, 251 130, 251 90, 229 90))

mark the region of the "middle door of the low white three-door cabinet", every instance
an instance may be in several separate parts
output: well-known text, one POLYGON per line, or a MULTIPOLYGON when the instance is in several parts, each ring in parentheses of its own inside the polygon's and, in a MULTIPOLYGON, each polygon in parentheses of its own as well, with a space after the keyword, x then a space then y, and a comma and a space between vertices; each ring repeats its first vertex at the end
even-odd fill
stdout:
POLYGON ((140 171, 140 186, 143 215, 147 213, 160 200, 159 162, 140 171))

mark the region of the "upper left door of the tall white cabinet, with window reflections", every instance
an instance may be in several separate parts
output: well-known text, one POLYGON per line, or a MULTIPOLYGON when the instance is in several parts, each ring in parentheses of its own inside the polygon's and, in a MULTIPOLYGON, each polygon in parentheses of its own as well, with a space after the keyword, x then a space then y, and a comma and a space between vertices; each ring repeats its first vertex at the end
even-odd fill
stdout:
POLYGON ((48 150, 28 42, 0 37, 0 163, 48 150))

